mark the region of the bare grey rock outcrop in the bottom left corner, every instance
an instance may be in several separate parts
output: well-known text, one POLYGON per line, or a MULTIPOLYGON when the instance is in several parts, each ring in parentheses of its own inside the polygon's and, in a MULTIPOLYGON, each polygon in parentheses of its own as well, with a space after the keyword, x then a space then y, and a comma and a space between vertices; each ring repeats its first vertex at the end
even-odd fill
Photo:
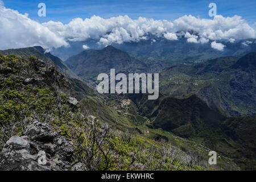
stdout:
POLYGON ((73 143, 53 133, 47 123, 32 121, 24 136, 11 137, 0 154, 0 170, 85 170, 82 164, 72 167, 73 143))

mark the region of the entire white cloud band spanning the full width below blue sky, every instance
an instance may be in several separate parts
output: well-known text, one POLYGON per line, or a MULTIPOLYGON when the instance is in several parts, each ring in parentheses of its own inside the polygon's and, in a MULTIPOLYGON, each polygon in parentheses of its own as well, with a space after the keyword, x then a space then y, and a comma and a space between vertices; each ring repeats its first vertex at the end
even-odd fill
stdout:
POLYGON ((127 15, 104 19, 94 15, 86 19, 75 18, 67 24, 53 21, 40 24, 28 18, 27 14, 0 7, 0 49, 35 45, 51 49, 68 46, 67 42, 91 39, 108 46, 147 40, 151 35, 168 40, 178 40, 185 36, 187 42, 201 44, 209 40, 256 38, 254 28, 237 15, 216 15, 214 19, 184 15, 172 22, 143 17, 131 19, 127 15), (196 32, 196 35, 189 32, 196 32))

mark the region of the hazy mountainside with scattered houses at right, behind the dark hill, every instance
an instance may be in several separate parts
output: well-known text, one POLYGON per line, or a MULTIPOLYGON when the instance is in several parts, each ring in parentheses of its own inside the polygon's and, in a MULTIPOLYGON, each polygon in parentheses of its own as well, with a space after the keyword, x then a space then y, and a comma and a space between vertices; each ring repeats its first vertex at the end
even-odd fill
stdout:
POLYGON ((171 67, 160 73, 160 92, 171 96, 195 93, 211 108, 227 116, 256 113, 255 52, 238 60, 219 57, 191 66, 171 67))

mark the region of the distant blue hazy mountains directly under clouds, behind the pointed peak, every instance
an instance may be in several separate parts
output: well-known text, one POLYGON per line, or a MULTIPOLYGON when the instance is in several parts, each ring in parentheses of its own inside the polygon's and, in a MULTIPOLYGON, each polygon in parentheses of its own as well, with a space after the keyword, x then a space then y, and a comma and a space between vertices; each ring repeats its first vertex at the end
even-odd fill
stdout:
MULTIPOLYGON (((178 33, 178 32, 177 32, 178 33)), ((196 32, 190 31, 191 35, 197 36, 196 32)), ((191 43, 187 38, 179 36, 178 40, 167 40, 155 35, 147 35, 147 39, 138 42, 127 42, 123 44, 112 44, 117 49, 125 51, 144 61, 151 61, 158 67, 158 71, 162 67, 170 67, 180 63, 194 63, 214 59, 221 56, 237 56, 241 57, 249 52, 256 51, 256 39, 236 40, 228 42, 219 40, 218 43, 225 47, 222 51, 211 47, 210 42, 191 43)), ((67 60, 73 55, 84 51, 82 46, 86 45, 89 49, 100 50, 104 45, 98 44, 96 40, 87 40, 84 42, 69 42, 71 46, 53 49, 53 55, 67 60)))

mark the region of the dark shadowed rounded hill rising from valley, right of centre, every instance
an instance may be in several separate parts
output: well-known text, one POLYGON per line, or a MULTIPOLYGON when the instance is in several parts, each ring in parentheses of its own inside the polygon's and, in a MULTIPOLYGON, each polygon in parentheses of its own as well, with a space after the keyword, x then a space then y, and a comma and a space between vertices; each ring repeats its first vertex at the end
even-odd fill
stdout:
POLYGON ((226 119, 196 95, 175 98, 161 94, 158 100, 147 100, 143 94, 129 94, 127 97, 151 119, 152 127, 171 131, 180 137, 206 137, 226 119))

